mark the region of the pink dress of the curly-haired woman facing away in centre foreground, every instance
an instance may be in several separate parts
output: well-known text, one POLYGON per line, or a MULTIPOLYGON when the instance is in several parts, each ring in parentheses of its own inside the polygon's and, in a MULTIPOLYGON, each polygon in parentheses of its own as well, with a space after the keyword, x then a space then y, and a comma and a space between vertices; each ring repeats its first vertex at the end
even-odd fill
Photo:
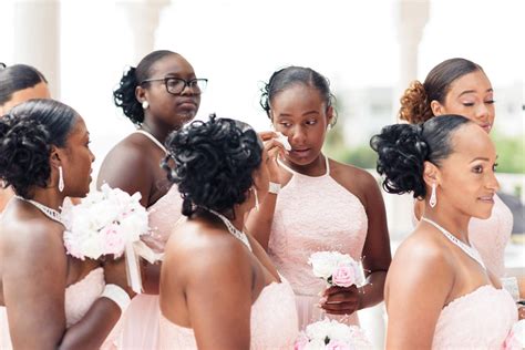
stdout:
MULTIPOLYGON (((250 349, 292 349, 298 336, 297 311, 290 285, 266 286, 251 306, 250 349)), ((161 316, 161 349, 197 349, 193 329, 161 316)))

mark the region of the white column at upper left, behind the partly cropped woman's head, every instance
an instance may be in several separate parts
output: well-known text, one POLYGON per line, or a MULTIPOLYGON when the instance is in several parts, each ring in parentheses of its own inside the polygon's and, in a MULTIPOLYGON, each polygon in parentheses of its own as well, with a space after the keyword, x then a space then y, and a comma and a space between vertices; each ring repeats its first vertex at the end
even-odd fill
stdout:
POLYGON ((37 68, 60 100, 60 1, 14 2, 14 62, 37 68))

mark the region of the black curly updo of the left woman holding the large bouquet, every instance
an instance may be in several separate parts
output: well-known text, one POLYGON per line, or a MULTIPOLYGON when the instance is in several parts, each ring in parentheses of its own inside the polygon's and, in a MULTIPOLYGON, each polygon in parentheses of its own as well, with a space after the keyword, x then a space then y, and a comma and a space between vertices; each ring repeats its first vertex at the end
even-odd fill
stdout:
POLYGON ((47 187, 51 146, 65 147, 78 119, 70 106, 54 100, 30 100, 0 119, 0 178, 14 193, 32 197, 34 186, 47 187))

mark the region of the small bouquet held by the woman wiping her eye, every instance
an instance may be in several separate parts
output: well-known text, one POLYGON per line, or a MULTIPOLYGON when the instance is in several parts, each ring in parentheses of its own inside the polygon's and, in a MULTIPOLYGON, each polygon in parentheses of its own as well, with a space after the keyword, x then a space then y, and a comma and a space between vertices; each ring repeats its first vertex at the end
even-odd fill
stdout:
POLYGON ((348 254, 338 251, 317 251, 308 259, 313 275, 322 278, 329 286, 350 287, 363 282, 361 266, 348 254))

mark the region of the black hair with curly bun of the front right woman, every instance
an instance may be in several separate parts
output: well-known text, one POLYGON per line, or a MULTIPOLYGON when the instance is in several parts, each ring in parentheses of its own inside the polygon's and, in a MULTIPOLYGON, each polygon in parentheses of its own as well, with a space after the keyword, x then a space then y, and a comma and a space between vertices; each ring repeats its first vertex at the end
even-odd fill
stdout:
POLYGON ((379 155, 377 171, 384 175, 384 191, 413 192, 414 198, 425 198, 424 162, 440 166, 454 151, 452 134, 466 123, 471 122, 464 116, 447 114, 423 124, 388 125, 372 136, 370 146, 379 155))

